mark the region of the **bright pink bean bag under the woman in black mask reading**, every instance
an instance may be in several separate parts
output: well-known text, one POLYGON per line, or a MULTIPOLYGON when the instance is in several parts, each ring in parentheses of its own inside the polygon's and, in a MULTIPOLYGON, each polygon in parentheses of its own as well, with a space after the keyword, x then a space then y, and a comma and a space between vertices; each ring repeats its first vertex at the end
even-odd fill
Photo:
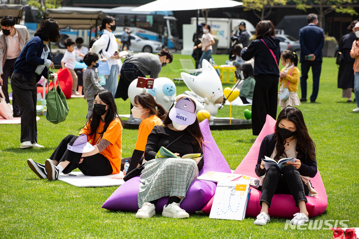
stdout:
MULTIPOLYGON (((262 131, 234 173, 258 178, 254 169, 255 165, 257 164, 259 148, 263 138, 268 134, 274 133, 275 122, 276 120, 267 115, 266 123, 264 124, 262 131)), ((319 171, 314 178, 311 178, 311 182, 314 189, 318 192, 318 195, 317 198, 307 196, 307 210, 309 212, 309 217, 315 217, 322 214, 326 210, 328 205, 328 198, 319 171)), ((257 217, 257 215, 260 213, 260 195, 261 192, 259 190, 252 188, 246 211, 247 217, 257 217)), ((206 206, 204 206, 202 211, 209 214, 212 203, 213 198, 206 206)), ((292 195, 275 194, 273 196, 272 205, 269 208, 268 213, 271 217, 293 218, 293 214, 299 213, 299 208, 295 206, 292 195)))

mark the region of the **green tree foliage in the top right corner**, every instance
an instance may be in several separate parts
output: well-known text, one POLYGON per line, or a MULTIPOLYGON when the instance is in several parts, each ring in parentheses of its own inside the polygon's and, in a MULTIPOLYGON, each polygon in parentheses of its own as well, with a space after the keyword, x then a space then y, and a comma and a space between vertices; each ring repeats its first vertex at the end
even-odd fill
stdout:
POLYGON ((307 11, 308 8, 315 8, 319 13, 319 27, 323 28, 324 16, 332 11, 358 15, 351 6, 353 0, 295 0, 297 8, 307 11))

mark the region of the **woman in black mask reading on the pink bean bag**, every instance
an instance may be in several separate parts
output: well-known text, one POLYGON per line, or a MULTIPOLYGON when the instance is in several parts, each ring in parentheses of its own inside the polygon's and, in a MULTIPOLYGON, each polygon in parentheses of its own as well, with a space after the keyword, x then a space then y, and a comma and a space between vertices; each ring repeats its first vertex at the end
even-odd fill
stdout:
POLYGON ((262 210, 254 224, 265 225, 270 222, 268 208, 274 194, 293 195, 300 212, 294 215, 292 224, 302 225, 308 222, 306 196, 316 193, 308 177, 313 178, 317 174, 317 161, 315 144, 309 136, 300 110, 287 107, 281 111, 275 124, 275 132, 265 136, 261 143, 255 172, 257 176, 265 177, 260 187, 262 194, 259 204, 262 210), (295 162, 287 162, 283 170, 277 166, 266 169, 262 160, 265 156, 277 162, 282 158, 293 157, 295 162))

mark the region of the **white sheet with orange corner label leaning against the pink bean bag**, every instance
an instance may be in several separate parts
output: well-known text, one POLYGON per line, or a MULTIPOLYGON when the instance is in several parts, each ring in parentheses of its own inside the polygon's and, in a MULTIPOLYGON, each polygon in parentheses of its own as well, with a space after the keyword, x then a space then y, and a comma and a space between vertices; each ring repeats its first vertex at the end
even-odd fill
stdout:
POLYGON ((243 220, 248 199, 248 180, 218 182, 209 218, 243 220))

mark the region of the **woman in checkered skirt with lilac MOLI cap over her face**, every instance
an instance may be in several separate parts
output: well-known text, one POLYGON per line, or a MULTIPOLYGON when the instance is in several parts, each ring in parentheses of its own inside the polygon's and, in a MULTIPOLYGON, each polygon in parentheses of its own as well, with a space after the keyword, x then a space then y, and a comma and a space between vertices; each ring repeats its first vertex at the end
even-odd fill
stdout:
POLYGON ((202 153, 203 136, 195 114, 195 103, 180 98, 163 125, 156 125, 147 139, 145 148, 145 169, 141 174, 136 218, 150 218, 155 215, 158 199, 170 196, 162 216, 189 218, 179 207, 198 171, 203 159, 180 158, 185 154, 202 153), (159 157, 161 147, 167 148, 179 158, 159 157))

